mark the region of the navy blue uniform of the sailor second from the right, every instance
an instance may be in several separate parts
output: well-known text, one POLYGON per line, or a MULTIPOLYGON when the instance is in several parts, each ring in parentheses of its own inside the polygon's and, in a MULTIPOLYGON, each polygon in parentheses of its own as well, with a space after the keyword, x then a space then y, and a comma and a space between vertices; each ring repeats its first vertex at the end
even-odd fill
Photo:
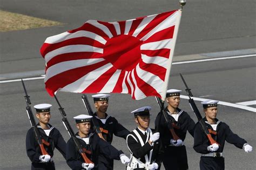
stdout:
MULTIPOLYGON (((186 138, 187 131, 194 136, 194 121, 184 110, 177 108, 178 121, 176 121, 173 116, 171 116, 170 111, 165 108, 167 112, 167 117, 171 122, 175 123, 180 127, 180 129, 175 129, 174 131, 177 136, 184 141, 186 138)), ((185 145, 182 146, 171 146, 170 140, 173 139, 170 130, 168 129, 167 123, 165 121, 164 115, 159 112, 156 121, 154 122, 156 129, 158 127, 160 132, 160 139, 164 145, 164 159, 163 164, 165 169, 188 169, 187 164, 187 152, 185 145)))

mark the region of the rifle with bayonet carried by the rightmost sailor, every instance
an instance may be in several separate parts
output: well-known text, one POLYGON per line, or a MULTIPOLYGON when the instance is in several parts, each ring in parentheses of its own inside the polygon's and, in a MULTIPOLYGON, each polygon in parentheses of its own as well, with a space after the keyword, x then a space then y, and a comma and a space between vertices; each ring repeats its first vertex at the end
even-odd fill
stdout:
MULTIPOLYGON (((210 141, 210 144, 211 144, 211 145, 214 144, 214 143, 215 143, 215 144, 218 144, 217 141, 215 141, 215 140, 212 138, 212 136, 211 136, 211 134, 216 135, 217 132, 216 132, 216 131, 213 131, 213 130, 211 130, 211 129, 207 129, 207 127, 206 127, 206 125, 205 125, 205 122, 204 122, 204 120, 203 120, 203 117, 201 116, 201 114, 200 114, 200 112, 199 112, 199 110, 198 110, 198 108, 197 108, 196 103, 194 103, 193 98, 191 98, 191 97, 193 97, 193 95, 192 95, 192 93, 191 93, 191 91, 190 91, 191 89, 188 88, 188 86, 187 86, 187 84, 186 84, 186 82, 185 82, 185 80, 184 80, 184 77, 181 75, 181 73, 180 73, 180 77, 181 77, 182 81, 184 82, 184 84, 185 84, 185 86, 186 86, 186 89, 185 89, 185 90, 186 90, 187 96, 189 97, 188 102, 190 103, 190 107, 191 107, 191 109, 194 111, 194 114, 197 116, 198 122, 200 123, 201 128, 203 129, 204 133, 206 134, 208 140, 210 141)), ((218 144, 218 145, 219 145, 219 144, 218 144)))

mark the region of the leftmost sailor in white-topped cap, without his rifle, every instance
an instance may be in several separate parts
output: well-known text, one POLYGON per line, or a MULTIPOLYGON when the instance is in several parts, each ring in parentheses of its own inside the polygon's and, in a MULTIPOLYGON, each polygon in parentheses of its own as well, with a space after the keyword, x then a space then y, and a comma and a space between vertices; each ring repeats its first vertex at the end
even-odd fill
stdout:
POLYGON ((42 139, 49 143, 49 146, 44 145, 48 154, 42 155, 39 144, 35 139, 35 132, 32 128, 29 129, 26 134, 26 154, 32 162, 31 169, 55 169, 52 159, 55 147, 64 158, 66 157, 66 142, 63 139, 62 134, 49 124, 51 119, 51 106, 51 104, 37 104, 34 106, 36 109, 36 117, 39 121, 37 128, 42 139))

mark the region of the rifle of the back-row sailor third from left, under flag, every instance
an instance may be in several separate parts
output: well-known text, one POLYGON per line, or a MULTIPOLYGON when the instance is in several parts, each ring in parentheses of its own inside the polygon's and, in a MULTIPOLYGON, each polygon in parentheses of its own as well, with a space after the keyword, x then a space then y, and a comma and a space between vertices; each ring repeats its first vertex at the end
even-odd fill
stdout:
POLYGON ((109 131, 105 130, 103 128, 100 128, 98 121, 96 120, 95 116, 93 115, 93 112, 92 112, 92 109, 91 109, 91 105, 90 105, 90 103, 88 101, 88 98, 87 98, 87 96, 85 94, 82 95, 82 100, 84 102, 84 105, 85 105, 85 108, 86 108, 88 114, 90 116, 92 116, 93 129, 96 131, 96 133, 98 134, 98 136, 100 138, 102 138, 103 140, 106 141, 106 139, 104 139, 104 137, 102 136, 102 132, 107 134, 107 133, 109 133, 109 131))

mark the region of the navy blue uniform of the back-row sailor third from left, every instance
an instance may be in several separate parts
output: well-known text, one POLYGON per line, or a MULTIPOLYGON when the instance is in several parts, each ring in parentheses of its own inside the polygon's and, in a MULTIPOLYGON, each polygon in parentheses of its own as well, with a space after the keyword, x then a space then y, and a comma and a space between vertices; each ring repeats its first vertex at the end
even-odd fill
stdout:
MULTIPOLYGON (((106 141, 109 144, 112 143, 113 134, 117 137, 126 139, 127 135, 130 133, 130 131, 125 129, 124 126, 122 126, 120 123, 118 123, 117 119, 112 116, 105 114, 105 116, 106 116, 105 124, 102 123, 102 121, 100 121, 100 118, 97 116, 96 112, 95 112, 94 116, 96 117, 96 120, 98 121, 100 128, 103 128, 104 130, 108 131, 107 134, 102 133, 102 135, 103 135, 104 139, 106 139, 106 141)), ((91 128, 93 128, 93 126, 91 126, 91 128)), ((100 155, 99 156, 99 164, 102 164, 103 167, 105 166, 109 169, 113 169, 114 161, 113 161, 113 159, 104 157, 104 155, 100 155)))

